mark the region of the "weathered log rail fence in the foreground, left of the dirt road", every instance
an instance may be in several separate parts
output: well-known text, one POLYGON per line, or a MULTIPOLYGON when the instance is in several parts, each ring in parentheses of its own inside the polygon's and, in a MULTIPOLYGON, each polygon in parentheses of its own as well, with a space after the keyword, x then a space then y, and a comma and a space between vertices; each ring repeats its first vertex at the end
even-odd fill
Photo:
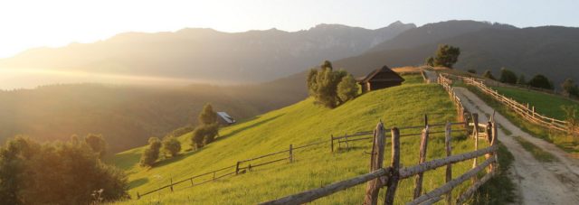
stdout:
MULTIPOLYGON (((401 167, 400 165, 400 137, 401 130, 407 128, 415 128, 413 126, 407 127, 394 127, 390 130, 390 138, 392 140, 392 159, 391 164, 388 167, 383 167, 384 162, 384 146, 386 141, 386 131, 384 130, 384 125, 382 122, 378 123, 373 132, 373 145, 372 153, 370 154, 370 172, 358 175, 356 177, 347 179, 341 182, 334 182, 322 188, 313 189, 309 191, 303 191, 297 194, 282 197, 277 200, 270 200, 263 202, 261 204, 302 204, 313 200, 318 200, 319 198, 328 196, 330 194, 336 193, 337 191, 343 191, 347 188, 354 187, 356 185, 366 183, 364 204, 377 204, 378 193, 380 189, 384 188, 385 197, 384 204, 394 204, 394 195, 397 189, 398 183, 407 178, 414 177, 415 189, 413 191, 413 200, 408 204, 432 204, 436 201, 444 198, 448 204, 451 204, 451 191, 460 185, 462 182, 468 180, 473 180, 472 186, 463 193, 460 197, 456 199, 457 204, 461 204, 465 200, 470 198, 483 183, 488 182, 489 179, 495 174, 497 167, 497 126, 495 126, 494 121, 489 121, 489 123, 479 123, 478 115, 472 114, 472 123, 467 124, 465 122, 458 123, 446 123, 444 126, 445 136, 445 150, 447 157, 441 159, 435 159, 429 162, 425 162, 426 159, 426 149, 428 147, 428 140, 432 134, 440 133, 440 131, 431 131, 432 127, 438 125, 427 125, 423 126, 421 136, 421 147, 418 154, 419 163, 410 167, 401 167), (452 126, 459 125, 472 125, 472 139, 474 139, 475 151, 466 154, 454 154, 452 155, 451 148, 451 133, 452 126), (479 130, 484 130, 479 132, 479 130), (482 135, 484 133, 485 135, 482 135), (489 142, 489 147, 484 149, 478 149, 479 136, 484 137, 489 142), (486 161, 483 163, 477 163, 477 157, 485 156, 486 161), (452 179, 452 164, 459 163, 466 160, 473 160, 473 168, 469 172, 465 172, 459 177, 452 179), (431 171, 433 169, 446 166, 446 183, 441 185, 432 191, 423 193, 422 191, 422 178, 423 173, 431 171), (478 178, 477 173, 483 171, 487 168, 487 174, 478 178)), ((458 130, 454 130, 455 132, 458 130)), ((462 131, 462 130, 460 130, 462 131)), ((333 137, 334 140, 346 139, 333 137)))

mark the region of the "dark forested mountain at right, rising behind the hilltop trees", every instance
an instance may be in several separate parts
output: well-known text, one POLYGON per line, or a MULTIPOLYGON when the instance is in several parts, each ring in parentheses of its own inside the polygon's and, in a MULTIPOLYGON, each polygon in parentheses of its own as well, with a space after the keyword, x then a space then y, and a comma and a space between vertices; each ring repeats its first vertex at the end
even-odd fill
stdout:
POLYGON ((506 24, 450 21, 430 23, 401 33, 370 51, 335 61, 338 67, 364 75, 382 65, 420 65, 439 44, 460 47, 459 70, 492 70, 502 67, 525 74, 527 79, 545 74, 558 84, 565 78, 579 81, 579 28, 541 26, 519 29, 506 24))

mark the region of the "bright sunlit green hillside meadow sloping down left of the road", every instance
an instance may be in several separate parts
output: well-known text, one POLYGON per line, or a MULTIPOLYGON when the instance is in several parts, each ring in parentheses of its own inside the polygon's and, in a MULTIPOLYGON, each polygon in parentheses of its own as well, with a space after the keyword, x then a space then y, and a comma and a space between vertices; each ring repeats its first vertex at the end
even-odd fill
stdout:
MULTIPOLYGON (((411 80, 409 80, 411 81, 411 80)), ((418 80, 416 80, 418 81, 418 80)), ((412 81, 411 81, 412 82, 412 81)), ((130 194, 156 189, 174 181, 195 174, 213 171, 235 164, 238 160, 261 154, 287 149, 289 144, 299 145, 328 140, 330 135, 343 135, 357 131, 371 130, 379 120, 386 127, 422 125, 424 114, 430 116, 430 123, 455 121, 454 106, 439 85, 405 83, 403 86, 376 90, 347 102, 335 109, 314 105, 308 98, 295 105, 271 111, 251 120, 228 126, 220 131, 221 137, 198 151, 183 152, 175 159, 158 163, 152 169, 138 167, 138 159, 143 148, 128 150, 115 157, 115 163, 129 173, 130 194)), ((416 133, 419 130, 407 131, 416 133)), ((453 154, 473 151, 473 142, 455 132, 453 154)), ((191 134, 180 140, 189 148, 191 134)), ((432 135, 427 159, 440 158, 444 153, 444 136, 432 135)), ((420 140, 417 136, 403 137, 401 140, 401 160, 404 166, 417 163, 420 140)), ((485 143, 481 143, 486 146, 485 143)), ((479 145, 481 145, 479 144, 479 145)), ((369 141, 359 141, 349 150, 330 153, 329 142, 295 152, 295 162, 286 161, 259 167, 252 172, 226 177, 216 182, 189 187, 185 182, 175 187, 147 195, 140 200, 128 200, 127 204, 255 204, 282 196, 318 188, 368 172, 370 151, 369 141)), ((386 147, 390 145, 387 144, 386 147)), ((390 162, 387 149, 384 164, 390 162)), ((482 159, 479 160, 482 162, 482 159)), ((471 162, 455 163, 453 176, 470 170, 471 162)), ((425 174, 424 191, 440 186, 444 181, 444 169, 425 174)), ((470 182, 463 183, 453 193, 464 191, 470 182)), ((321 204, 359 204, 364 198, 365 185, 340 191, 331 197, 316 200, 321 204)), ((412 200, 413 179, 401 182, 397 203, 412 200)), ((380 194, 384 197, 384 193, 380 194)))

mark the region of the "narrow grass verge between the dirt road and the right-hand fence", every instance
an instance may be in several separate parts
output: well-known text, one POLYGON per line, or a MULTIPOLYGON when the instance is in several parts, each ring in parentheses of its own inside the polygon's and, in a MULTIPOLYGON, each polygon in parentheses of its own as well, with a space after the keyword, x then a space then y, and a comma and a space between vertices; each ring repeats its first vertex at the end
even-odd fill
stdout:
POLYGON ((559 148, 563 149, 565 152, 571 154, 572 156, 579 158, 579 139, 567 135, 564 132, 559 132, 555 130, 549 130, 543 126, 537 126, 521 118, 514 111, 511 111, 508 107, 504 106, 494 98, 482 93, 479 89, 472 86, 465 86, 471 92, 476 94, 479 98, 487 103, 490 107, 493 107, 501 115, 507 117, 507 119, 518 126, 524 132, 536 136, 538 138, 544 139, 549 143, 555 144, 559 148))

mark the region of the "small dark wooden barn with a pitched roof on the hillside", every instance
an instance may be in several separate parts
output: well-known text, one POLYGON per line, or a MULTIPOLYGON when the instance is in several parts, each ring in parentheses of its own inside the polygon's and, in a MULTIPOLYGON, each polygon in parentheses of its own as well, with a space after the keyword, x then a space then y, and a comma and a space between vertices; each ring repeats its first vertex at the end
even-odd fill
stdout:
POLYGON ((362 87, 362 92, 368 92, 375 89, 385 89, 402 84, 404 79, 398 73, 390 70, 387 66, 382 69, 374 70, 365 77, 357 78, 356 81, 362 87))

